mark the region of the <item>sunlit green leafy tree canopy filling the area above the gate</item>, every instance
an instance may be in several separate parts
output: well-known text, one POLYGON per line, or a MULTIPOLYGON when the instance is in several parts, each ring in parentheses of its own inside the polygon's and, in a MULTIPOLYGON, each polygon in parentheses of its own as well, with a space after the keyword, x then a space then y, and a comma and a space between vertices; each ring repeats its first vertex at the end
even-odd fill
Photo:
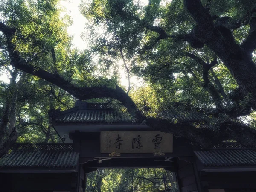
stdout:
MULTIPOLYGON (((135 0, 84 0, 80 9, 87 18, 87 30, 83 38, 90 47, 80 51, 71 49, 72 38, 67 28, 72 21, 68 15, 60 17, 58 0, 3 0, 0 4, 0 20, 17 29, 12 43, 20 55, 29 64, 41 67, 49 73, 63 77, 77 87, 120 86, 121 78, 137 76, 143 79, 143 85, 134 88, 131 85, 129 95, 146 116, 159 116, 160 112, 176 108, 180 113, 186 106, 190 111, 214 111, 215 100, 204 86, 203 67, 198 61, 188 57, 194 54, 206 64, 214 60, 215 54, 207 47, 193 49, 187 42, 178 38, 160 36, 152 30, 160 27, 167 34, 190 33, 196 23, 184 8, 183 0, 163 3, 151 0, 146 6, 135 0), (126 65, 126 66, 125 66, 126 65), (125 69, 125 76, 120 70, 125 69), (177 108, 175 103, 186 104, 177 108)), ((201 0, 215 15, 213 22, 221 17, 230 17, 229 24, 241 22, 241 27, 232 29, 235 41, 244 41, 251 20, 255 14, 255 0, 201 0)), ((6 43, 0 33, 0 46, 6 43)), ((253 55, 255 59, 255 55, 253 55)), ((234 102, 229 96, 238 87, 233 75, 225 65, 218 64, 208 74, 210 83, 218 92, 224 109, 232 108, 234 102), (219 82, 219 83, 218 83, 219 82), (221 92, 222 91, 222 92, 221 92)), ((5 47, 0 49, 0 72, 6 73, 10 59, 5 47)), ((19 74, 19 76, 21 73, 19 74)), ((17 78, 17 81, 19 79, 17 78)), ((3 116, 6 101, 12 97, 8 84, 0 84, 0 116, 3 116)), ((246 99, 245 99, 246 100, 246 99)), ((248 102, 240 101, 239 105, 248 102)), ((26 76, 19 90, 17 128, 19 142, 44 142, 45 132, 49 128, 49 109, 68 109, 75 98, 55 85, 35 76, 26 76)), ((91 99, 110 101, 110 99, 91 99)), ((111 101, 117 111, 125 112, 119 102, 111 101)), ((131 118, 125 114, 125 117, 131 118)), ((232 117, 223 113, 221 117, 209 116, 209 125, 218 131, 220 122, 232 117)), ((254 115, 250 118, 255 119, 254 115)), ((111 117, 110 117, 111 119, 111 117)), ((236 119, 237 120, 237 119, 236 119)), ((51 142, 58 137, 50 131, 51 142)))

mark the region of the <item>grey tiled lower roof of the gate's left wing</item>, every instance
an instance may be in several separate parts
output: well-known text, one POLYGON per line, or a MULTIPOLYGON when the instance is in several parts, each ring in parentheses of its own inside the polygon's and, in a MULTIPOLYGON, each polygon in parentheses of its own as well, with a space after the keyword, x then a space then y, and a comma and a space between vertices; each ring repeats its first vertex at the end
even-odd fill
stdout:
POLYGON ((74 151, 13 151, 0 159, 0 169, 76 168, 78 159, 74 151))

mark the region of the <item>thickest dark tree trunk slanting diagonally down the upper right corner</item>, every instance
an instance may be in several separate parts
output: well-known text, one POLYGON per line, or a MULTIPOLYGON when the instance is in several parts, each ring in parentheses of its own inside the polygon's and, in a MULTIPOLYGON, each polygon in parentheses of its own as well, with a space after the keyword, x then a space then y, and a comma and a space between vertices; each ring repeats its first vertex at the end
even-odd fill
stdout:
POLYGON ((204 9, 200 0, 184 0, 184 4, 198 23, 193 29, 195 36, 223 61, 239 84, 243 96, 250 95, 250 105, 256 110, 256 66, 251 54, 241 49, 230 29, 214 25, 209 11, 204 9))

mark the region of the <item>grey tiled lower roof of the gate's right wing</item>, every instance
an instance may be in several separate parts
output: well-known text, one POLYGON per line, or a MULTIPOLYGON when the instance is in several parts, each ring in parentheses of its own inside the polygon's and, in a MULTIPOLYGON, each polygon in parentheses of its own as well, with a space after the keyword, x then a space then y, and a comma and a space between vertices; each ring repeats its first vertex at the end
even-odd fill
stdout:
POLYGON ((206 167, 256 166, 256 151, 250 149, 215 149, 194 153, 206 167))

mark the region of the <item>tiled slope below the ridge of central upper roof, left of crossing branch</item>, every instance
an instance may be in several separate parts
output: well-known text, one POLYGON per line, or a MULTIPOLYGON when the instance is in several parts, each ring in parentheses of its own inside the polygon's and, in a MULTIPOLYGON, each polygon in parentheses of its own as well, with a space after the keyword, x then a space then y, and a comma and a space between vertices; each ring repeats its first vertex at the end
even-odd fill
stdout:
POLYGON ((71 111, 55 119, 58 123, 130 122, 128 116, 111 109, 84 109, 71 111))

